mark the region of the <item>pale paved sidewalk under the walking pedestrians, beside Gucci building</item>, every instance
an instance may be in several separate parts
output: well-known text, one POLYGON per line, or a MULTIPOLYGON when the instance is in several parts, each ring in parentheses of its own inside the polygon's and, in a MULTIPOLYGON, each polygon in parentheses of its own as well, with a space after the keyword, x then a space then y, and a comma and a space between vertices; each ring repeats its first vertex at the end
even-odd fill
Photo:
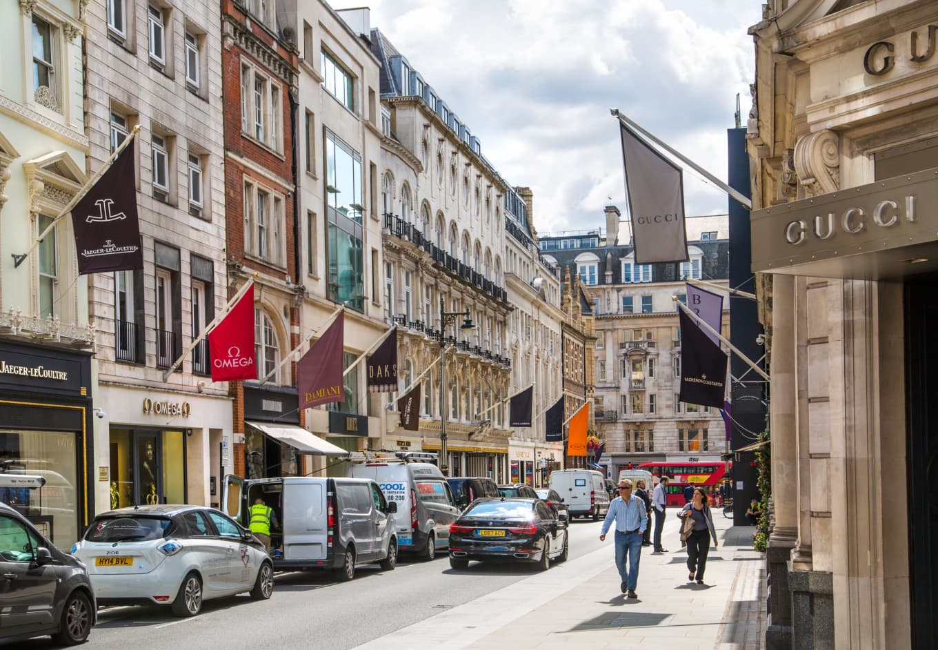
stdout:
MULTIPOLYGON (((664 546, 644 547, 636 592, 619 591, 612 536, 603 548, 551 567, 484 597, 358 646, 447 648, 679 648, 759 650, 764 637, 764 558, 752 528, 733 527, 714 509, 719 548, 710 548, 704 584, 688 583, 679 520, 669 511, 664 546)), ((581 524, 596 528, 599 524, 581 524)), ((471 569, 470 569, 471 570, 471 569)))

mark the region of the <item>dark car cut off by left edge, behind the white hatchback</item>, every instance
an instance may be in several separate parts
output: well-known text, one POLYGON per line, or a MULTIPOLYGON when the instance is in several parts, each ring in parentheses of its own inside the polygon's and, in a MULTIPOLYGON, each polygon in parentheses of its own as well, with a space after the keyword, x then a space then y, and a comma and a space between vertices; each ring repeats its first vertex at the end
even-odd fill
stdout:
POLYGON ((0 641, 51 634, 58 643, 81 643, 97 611, 84 565, 0 503, 0 641))

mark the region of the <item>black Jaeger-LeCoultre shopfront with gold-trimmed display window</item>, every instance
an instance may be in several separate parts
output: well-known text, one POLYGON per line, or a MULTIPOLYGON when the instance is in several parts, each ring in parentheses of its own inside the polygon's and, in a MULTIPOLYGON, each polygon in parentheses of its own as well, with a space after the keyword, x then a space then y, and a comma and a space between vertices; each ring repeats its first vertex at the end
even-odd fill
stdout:
POLYGON ((53 544, 68 549, 94 515, 91 355, 0 341, 0 474, 42 476, 0 487, 53 544))

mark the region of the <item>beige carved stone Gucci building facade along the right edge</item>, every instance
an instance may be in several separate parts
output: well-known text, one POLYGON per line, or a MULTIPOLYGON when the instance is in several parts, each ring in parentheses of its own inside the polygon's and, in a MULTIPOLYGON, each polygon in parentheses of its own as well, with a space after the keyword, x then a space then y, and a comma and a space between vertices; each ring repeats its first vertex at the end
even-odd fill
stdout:
POLYGON ((936 23, 933 2, 773 0, 750 28, 766 647, 938 643, 936 23))

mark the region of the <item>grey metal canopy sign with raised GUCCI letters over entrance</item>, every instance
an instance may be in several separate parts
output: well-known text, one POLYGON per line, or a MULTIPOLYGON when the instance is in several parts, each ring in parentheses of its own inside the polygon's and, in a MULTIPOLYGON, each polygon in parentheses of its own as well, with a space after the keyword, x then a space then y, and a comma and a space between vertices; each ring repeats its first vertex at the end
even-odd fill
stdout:
POLYGON ((938 269, 938 167, 751 214, 752 271, 889 280, 938 269))

